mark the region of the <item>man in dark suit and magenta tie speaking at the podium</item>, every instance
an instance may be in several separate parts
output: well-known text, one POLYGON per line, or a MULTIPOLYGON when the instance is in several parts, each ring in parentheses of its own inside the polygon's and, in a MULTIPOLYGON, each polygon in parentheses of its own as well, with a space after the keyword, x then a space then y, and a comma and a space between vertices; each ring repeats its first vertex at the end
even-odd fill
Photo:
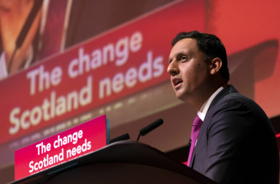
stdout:
POLYGON ((258 104, 228 85, 220 39, 183 32, 172 46, 167 72, 173 90, 197 110, 187 165, 219 184, 279 184, 271 123, 258 104))

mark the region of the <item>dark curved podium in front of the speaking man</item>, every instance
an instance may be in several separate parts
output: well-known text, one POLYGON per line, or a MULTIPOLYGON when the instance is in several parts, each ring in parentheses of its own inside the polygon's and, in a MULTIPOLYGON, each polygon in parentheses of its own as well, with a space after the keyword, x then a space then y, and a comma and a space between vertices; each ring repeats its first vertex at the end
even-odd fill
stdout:
POLYGON ((216 184, 140 142, 118 141, 12 184, 216 184))

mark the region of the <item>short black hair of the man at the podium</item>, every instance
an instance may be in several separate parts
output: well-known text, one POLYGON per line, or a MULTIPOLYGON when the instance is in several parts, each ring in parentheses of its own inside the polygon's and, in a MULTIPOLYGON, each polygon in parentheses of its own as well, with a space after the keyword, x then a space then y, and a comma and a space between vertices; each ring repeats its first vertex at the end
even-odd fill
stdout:
POLYGON ((228 81, 230 80, 227 51, 224 44, 218 37, 211 34, 200 33, 198 31, 181 32, 173 39, 172 46, 185 38, 196 40, 198 49, 204 53, 205 62, 214 59, 215 57, 219 57, 223 62, 220 70, 221 75, 228 81))

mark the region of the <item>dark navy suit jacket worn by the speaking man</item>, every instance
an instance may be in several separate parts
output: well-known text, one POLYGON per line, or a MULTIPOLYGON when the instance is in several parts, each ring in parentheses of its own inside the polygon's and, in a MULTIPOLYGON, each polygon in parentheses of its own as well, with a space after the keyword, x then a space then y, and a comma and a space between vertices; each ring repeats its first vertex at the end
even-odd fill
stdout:
POLYGON ((279 184, 279 151, 271 123, 253 100, 227 86, 202 123, 190 168, 220 184, 279 184))

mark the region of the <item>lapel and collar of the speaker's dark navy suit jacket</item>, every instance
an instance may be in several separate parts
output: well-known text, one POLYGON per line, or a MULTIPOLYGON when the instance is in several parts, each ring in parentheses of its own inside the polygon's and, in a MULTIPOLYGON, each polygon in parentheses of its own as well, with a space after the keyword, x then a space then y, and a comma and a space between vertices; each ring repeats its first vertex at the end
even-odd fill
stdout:
MULTIPOLYGON (((214 106, 225 95, 227 95, 229 93, 232 93, 232 92, 237 92, 237 91, 235 90, 235 88, 232 85, 226 86, 221 92, 219 92, 215 96, 215 98, 213 99, 213 101, 211 102, 211 104, 208 108, 208 111, 211 109, 212 106, 214 106)), ((206 131, 205 129, 208 127, 207 126, 207 123, 209 122, 208 117, 209 117, 209 113, 208 113, 208 116, 207 116, 207 113, 206 113, 205 119, 202 123, 201 129, 200 129, 199 134, 198 134, 197 143, 194 147, 194 150, 193 150, 193 153, 192 153, 192 156, 191 156, 190 165, 189 165, 190 168, 193 168, 196 153, 199 152, 202 148, 205 147, 204 138, 205 138, 206 133, 204 133, 204 132, 206 131)), ((195 144, 195 142, 193 142, 193 143, 195 144)))

